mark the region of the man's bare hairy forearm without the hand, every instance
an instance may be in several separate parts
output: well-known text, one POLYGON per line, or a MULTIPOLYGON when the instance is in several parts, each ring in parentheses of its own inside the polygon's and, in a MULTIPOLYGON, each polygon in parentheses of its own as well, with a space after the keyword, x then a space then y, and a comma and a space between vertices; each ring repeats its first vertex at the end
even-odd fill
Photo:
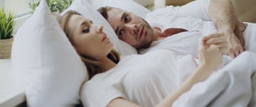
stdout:
POLYGON ((210 19, 218 31, 233 31, 238 17, 230 0, 212 0, 209 6, 210 19))

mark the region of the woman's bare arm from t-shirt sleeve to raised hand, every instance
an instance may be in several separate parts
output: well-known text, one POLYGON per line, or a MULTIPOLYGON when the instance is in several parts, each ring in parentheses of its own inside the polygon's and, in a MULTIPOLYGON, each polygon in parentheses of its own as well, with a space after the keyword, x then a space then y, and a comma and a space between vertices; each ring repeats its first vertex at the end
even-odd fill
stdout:
MULTIPOLYGON (((220 64, 222 64, 222 55, 223 55, 223 50, 222 48, 227 47, 227 43, 222 43, 221 46, 218 46, 216 44, 212 44, 209 41, 213 39, 219 39, 219 36, 223 36, 221 34, 214 34, 214 35, 209 35, 201 40, 200 46, 199 46, 199 60, 200 63, 198 67, 196 68, 195 72, 186 79, 186 81, 181 84, 181 86, 174 91, 173 94, 170 96, 167 96, 164 98, 163 101, 161 101, 157 107, 169 107, 171 106, 174 101, 181 96, 181 94, 185 93, 191 87, 193 84, 196 84, 200 81, 206 80, 212 72, 217 69, 220 64), (208 43, 208 44, 207 44, 208 43)), ((225 41, 225 38, 219 41, 225 41)), ((124 98, 115 98, 113 101, 111 101, 107 107, 139 107, 137 104, 129 102, 125 100, 124 98)))

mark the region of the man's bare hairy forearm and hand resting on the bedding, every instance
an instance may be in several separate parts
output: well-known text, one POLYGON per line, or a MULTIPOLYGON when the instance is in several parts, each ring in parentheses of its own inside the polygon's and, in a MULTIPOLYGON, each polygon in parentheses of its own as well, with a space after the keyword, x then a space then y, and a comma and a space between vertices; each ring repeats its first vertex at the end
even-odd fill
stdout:
POLYGON ((230 0, 212 0, 210 1, 208 12, 218 32, 224 33, 228 38, 228 55, 230 57, 240 55, 243 52, 242 43, 244 43, 241 38, 242 31, 245 30, 246 26, 238 21, 232 2, 230 0), (239 37, 240 39, 238 39, 239 37))

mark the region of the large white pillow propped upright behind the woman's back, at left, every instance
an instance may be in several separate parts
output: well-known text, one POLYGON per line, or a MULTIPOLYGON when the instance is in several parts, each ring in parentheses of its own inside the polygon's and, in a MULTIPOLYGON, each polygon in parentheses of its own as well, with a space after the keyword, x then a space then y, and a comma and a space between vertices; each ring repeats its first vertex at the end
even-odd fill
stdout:
POLYGON ((87 69, 46 4, 41 1, 14 37, 16 84, 26 85, 28 106, 67 107, 79 102, 87 69))

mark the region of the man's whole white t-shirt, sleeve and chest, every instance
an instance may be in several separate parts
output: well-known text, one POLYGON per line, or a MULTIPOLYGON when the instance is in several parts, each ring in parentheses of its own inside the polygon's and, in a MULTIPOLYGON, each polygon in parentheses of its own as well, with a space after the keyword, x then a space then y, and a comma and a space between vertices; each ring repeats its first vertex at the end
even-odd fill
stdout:
POLYGON ((191 54, 197 57, 198 40, 216 31, 214 24, 209 21, 209 4, 210 0, 197 0, 184 6, 167 6, 148 13, 146 21, 152 28, 158 27, 162 31, 168 28, 183 28, 188 31, 154 41, 149 48, 139 50, 139 54, 151 50, 169 49, 181 55, 191 54))

